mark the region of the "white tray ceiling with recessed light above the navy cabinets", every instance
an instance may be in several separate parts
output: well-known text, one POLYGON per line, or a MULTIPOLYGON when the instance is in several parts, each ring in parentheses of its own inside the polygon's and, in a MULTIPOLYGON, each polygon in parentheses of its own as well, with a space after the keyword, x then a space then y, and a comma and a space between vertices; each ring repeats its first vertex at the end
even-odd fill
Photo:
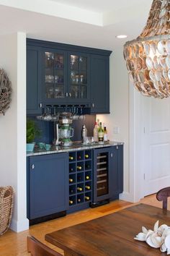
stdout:
POLYGON ((19 1, 0 0, 0 35, 24 31, 28 38, 114 51, 126 40, 140 34, 146 24, 152 0, 21 2, 22 5, 19 5, 19 1), (128 38, 118 40, 118 34, 127 34, 128 38))

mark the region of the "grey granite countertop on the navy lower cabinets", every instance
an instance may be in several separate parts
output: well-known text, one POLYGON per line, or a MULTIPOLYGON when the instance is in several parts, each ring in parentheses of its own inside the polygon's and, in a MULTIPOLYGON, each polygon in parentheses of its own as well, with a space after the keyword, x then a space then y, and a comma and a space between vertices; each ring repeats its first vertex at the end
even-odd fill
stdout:
POLYGON ((81 142, 73 142, 71 147, 61 147, 53 145, 50 150, 40 150, 39 148, 35 148, 33 152, 27 152, 27 156, 33 155, 47 155, 54 153, 63 153, 69 151, 77 151, 77 150, 88 150, 91 148, 106 148, 116 145, 123 145, 123 142, 104 142, 104 143, 94 143, 91 145, 82 145, 81 142))

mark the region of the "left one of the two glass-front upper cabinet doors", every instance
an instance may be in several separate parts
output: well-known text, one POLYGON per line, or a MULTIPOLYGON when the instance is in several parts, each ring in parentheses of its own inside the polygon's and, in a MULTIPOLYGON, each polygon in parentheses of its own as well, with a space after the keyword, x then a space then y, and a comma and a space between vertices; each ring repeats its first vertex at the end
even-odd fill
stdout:
POLYGON ((66 54, 58 51, 44 51, 44 91, 45 103, 59 103, 66 98, 66 54))

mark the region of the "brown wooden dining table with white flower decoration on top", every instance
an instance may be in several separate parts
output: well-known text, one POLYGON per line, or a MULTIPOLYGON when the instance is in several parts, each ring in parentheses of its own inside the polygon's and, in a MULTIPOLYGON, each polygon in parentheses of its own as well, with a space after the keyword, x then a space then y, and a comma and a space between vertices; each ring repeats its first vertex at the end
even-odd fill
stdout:
POLYGON ((139 204, 46 234, 45 240, 63 249, 65 256, 163 256, 166 252, 134 239, 142 226, 153 229, 156 221, 170 226, 170 211, 139 204))

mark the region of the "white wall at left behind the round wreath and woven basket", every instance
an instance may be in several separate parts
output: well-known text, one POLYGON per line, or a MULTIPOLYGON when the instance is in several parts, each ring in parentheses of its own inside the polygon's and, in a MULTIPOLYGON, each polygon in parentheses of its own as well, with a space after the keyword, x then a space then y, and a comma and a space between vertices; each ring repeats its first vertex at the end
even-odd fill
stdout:
POLYGON ((0 68, 12 82, 12 103, 0 116, 0 186, 14 188, 14 231, 28 228, 26 218, 26 35, 15 33, 0 37, 0 68))

